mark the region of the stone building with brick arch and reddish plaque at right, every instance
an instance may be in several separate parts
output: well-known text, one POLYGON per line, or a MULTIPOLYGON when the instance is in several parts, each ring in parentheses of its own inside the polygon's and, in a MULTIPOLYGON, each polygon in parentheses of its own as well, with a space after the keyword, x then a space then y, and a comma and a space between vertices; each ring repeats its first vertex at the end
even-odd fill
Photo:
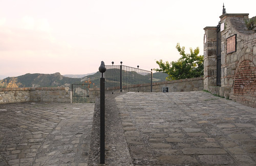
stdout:
POLYGON ((205 27, 204 89, 256 107, 256 33, 249 14, 223 13, 217 27, 205 27))

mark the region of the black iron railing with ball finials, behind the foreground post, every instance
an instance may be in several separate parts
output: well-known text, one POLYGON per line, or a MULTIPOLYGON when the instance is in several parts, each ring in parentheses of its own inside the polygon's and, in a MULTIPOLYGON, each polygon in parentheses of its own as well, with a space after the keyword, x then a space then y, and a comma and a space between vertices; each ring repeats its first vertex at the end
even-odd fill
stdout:
POLYGON ((153 73, 151 71, 122 65, 105 65, 105 93, 114 91, 152 92, 153 73))

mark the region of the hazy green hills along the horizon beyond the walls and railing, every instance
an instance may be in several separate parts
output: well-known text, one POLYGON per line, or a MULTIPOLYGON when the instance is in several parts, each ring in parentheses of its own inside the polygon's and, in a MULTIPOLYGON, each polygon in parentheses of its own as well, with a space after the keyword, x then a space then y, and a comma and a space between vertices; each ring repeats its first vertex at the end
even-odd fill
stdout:
MULTIPOLYGON (((67 75, 66 75, 67 76, 67 75)), ((126 72, 125 76, 128 80, 134 80, 134 78, 145 77, 136 72, 126 72)), ((167 74, 153 73, 153 82, 165 81, 167 74)), ((72 87, 72 84, 91 83, 90 87, 99 87, 99 79, 101 73, 97 72, 92 75, 87 75, 82 78, 70 78, 60 75, 60 73, 54 74, 25 74, 17 78, 17 82, 22 83, 21 87, 72 87)), ((7 77, 4 82, 9 82, 12 77, 7 77)), ((119 82, 119 78, 114 78, 112 82, 119 82)))

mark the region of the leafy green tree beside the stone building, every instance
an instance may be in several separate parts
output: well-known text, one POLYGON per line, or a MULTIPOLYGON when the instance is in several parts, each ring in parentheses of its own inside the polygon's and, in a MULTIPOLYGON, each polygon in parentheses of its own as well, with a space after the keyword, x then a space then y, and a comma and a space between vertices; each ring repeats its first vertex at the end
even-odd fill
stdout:
POLYGON ((169 76, 166 80, 179 80, 203 76, 203 56, 199 55, 199 48, 194 51, 190 48, 190 54, 185 54, 185 47, 180 47, 177 43, 176 49, 181 55, 178 61, 163 62, 162 59, 156 61, 159 68, 154 68, 157 72, 163 72, 169 76))

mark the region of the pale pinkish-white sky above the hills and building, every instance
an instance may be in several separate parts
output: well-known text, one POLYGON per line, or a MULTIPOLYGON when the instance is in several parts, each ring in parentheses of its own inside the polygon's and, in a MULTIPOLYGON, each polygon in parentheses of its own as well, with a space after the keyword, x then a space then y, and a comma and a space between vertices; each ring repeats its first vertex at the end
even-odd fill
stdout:
POLYGON ((256 16, 256 1, 0 0, 0 79, 27 73, 88 74, 105 65, 150 70, 199 47, 227 13, 256 16), (2 78, 1 78, 2 77, 2 78))

